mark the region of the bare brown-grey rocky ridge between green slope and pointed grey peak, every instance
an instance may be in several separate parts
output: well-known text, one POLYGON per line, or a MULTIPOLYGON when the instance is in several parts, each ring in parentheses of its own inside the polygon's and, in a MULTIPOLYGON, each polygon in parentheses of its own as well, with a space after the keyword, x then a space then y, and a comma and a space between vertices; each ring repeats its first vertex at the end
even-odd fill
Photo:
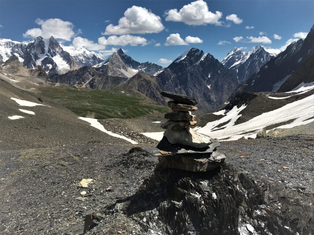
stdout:
POLYGON ((91 89, 108 89, 125 82, 123 77, 104 75, 93 67, 81 67, 65 74, 50 76, 49 81, 68 84, 72 87, 89 87, 91 89))

